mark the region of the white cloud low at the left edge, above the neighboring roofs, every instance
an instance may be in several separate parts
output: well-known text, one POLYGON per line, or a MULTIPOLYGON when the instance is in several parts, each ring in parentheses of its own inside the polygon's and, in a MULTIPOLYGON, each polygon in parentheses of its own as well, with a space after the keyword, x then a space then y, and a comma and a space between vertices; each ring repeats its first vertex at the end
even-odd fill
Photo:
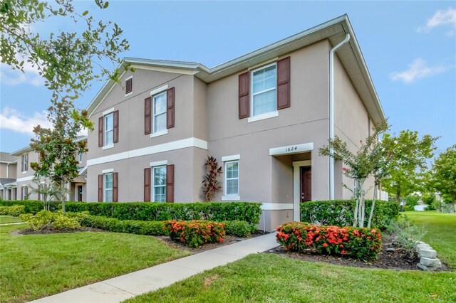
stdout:
POLYGON ((51 122, 46 118, 47 112, 35 112, 32 117, 27 117, 17 110, 5 107, 0 112, 0 128, 11 129, 14 132, 33 134, 33 127, 51 127, 51 122))

